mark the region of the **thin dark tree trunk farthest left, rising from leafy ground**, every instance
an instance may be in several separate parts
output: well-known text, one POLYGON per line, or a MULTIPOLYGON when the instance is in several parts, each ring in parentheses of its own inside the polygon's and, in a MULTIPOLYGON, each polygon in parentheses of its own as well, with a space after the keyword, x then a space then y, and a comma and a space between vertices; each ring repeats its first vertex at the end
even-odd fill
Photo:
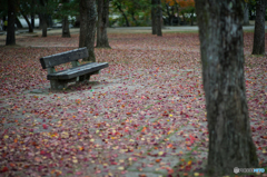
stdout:
POLYGON ((16 45, 14 21, 16 21, 16 0, 8 1, 8 29, 6 46, 16 45))

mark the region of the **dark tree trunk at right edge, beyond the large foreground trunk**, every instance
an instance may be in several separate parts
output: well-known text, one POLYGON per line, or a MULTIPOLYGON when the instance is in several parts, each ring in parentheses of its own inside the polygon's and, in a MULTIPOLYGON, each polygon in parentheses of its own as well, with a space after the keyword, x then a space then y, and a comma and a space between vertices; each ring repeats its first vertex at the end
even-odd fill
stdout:
POLYGON ((265 10, 266 0, 256 3, 253 55, 265 55, 265 10))

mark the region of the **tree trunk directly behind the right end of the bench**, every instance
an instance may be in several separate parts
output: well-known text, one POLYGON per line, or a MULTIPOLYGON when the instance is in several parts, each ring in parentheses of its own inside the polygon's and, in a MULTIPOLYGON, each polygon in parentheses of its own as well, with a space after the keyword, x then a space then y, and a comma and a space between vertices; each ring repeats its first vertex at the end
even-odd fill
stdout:
POLYGON ((96 62, 95 35, 96 35, 97 8, 96 0, 80 0, 80 38, 79 47, 87 47, 89 57, 85 61, 96 62))

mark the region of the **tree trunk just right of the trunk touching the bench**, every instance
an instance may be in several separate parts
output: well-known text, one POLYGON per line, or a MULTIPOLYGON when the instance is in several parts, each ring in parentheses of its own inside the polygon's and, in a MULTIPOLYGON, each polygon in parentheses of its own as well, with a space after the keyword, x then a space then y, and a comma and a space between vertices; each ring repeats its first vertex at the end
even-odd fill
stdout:
POLYGON ((98 0, 97 48, 110 48, 108 42, 109 0, 98 0))

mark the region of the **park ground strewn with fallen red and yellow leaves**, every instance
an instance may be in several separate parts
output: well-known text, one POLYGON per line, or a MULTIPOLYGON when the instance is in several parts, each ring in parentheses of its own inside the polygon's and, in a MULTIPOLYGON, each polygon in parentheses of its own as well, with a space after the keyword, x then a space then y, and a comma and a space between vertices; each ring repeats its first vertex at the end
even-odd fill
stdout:
MULTIPOLYGON (((24 37, 22 47, 0 48, 0 176, 204 176, 198 35, 109 35, 112 49, 95 50, 109 68, 51 92, 39 58, 78 40, 24 37)), ((267 59, 250 56, 253 33, 244 41, 251 131, 266 167, 267 59)))

